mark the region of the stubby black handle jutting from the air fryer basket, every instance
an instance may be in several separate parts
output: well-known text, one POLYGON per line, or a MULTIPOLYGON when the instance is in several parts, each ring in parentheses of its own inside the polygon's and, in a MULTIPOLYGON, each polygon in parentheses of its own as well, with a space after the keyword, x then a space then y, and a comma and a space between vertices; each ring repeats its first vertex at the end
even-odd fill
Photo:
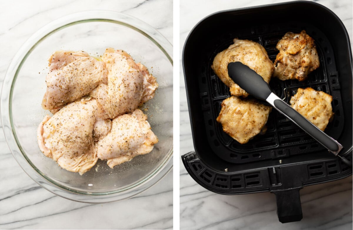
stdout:
POLYGON ((303 218, 299 189, 271 191, 276 195, 277 216, 281 223, 300 221, 303 218))

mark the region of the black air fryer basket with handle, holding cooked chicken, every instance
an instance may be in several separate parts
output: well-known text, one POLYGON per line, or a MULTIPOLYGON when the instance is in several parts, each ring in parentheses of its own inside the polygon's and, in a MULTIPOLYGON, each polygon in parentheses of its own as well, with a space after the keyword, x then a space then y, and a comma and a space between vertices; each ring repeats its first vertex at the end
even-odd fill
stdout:
POLYGON ((204 18, 190 32, 183 68, 195 152, 182 156, 192 178, 208 190, 235 195, 272 192, 282 223, 300 220, 299 189, 339 180, 352 169, 275 109, 267 132, 239 144, 216 122, 228 87, 211 69, 217 53, 233 38, 260 43, 274 61, 275 46, 286 32, 305 30, 316 43, 320 67, 305 81, 271 79, 270 87, 289 99, 299 87, 333 96, 333 121, 325 133, 343 145, 341 156, 352 161, 352 54, 341 20, 314 2, 295 1, 221 11, 204 18), (288 17, 295 15, 295 17, 288 17))

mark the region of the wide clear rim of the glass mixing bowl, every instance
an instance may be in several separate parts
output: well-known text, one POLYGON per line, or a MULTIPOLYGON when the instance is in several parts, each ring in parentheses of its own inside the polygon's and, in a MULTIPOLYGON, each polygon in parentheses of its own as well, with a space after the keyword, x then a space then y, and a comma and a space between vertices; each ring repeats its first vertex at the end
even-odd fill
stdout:
POLYGON ((155 43, 164 55, 166 55, 173 66, 173 58, 171 55, 173 50, 172 44, 170 44, 170 42, 163 35, 161 35, 160 32, 152 28, 152 26, 137 18, 127 14, 105 10, 82 11, 68 14, 48 23, 36 31, 17 51, 7 69, 2 84, 0 113, 6 143, 20 167, 32 178, 32 180, 48 191, 66 199, 87 203, 105 203, 131 198, 132 196, 143 192, 160 181, 173 168, 173 144, 170 146, 170 149, 167 152, 167 155, 164 156, 161 164, 158 165, 155 170, 150 172, 150 174, 146 175, 133 185, 129 184, 121 189, 109 192, 84 192, 82 190, 68 188, 56 183, 50 177, 47 177, 45 174, 41 173, 41 171, 31 163, 18 142, 11 118, 11 99, 14 83, 16 82, 17 74, 19 73, 19 70, 28 55, 42 40, 56 31, 64 29, 68 26, 87 22, 115 23, 139 32, 155 43))

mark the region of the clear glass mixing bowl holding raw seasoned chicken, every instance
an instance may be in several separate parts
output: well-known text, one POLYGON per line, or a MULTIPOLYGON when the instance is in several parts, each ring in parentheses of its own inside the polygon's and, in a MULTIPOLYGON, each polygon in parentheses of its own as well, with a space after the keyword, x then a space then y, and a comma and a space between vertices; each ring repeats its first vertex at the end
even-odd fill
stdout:
POLYGON ((1 92, 1 121, 8 146, 23 170, 38 184, 67 199, 101 203, 130 198, 151 187, 172 169, 172 45, 148 24, 112 11, 86 11, 49 23, 14 56, 1 92), (143 110, 159 142, 152 152, 110 169, 105 161, 84 175, 66 171, 39 150, 36 129, 45 114, 48 57, 55 50, 84 50, 103 55, 125 50, 157 78, 159 87, 143 110))

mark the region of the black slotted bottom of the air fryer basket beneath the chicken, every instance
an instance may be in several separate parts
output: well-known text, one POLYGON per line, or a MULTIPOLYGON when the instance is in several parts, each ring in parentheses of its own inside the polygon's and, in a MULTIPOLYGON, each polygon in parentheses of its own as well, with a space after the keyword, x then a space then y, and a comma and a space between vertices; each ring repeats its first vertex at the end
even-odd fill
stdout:
POLYGON ((289 104, 290 98, 297 89, 312 87, 324 91, 333 97, 333 121, 325 129, 325 133, 337 139, 343 130, 344 117, 340 94, 340 84, 336 70, 333 49, 325 35, 309 24, 274 24, 251 28, 250 33, 234 32, 219 37, 216 49, 210 54, 210 59, 205 67, 205 74, 199 80, 202 110, 207 132, 207 138, 213 151, 222 159, 232 163, 245 163, 271 158, 283 158, 291 155, 308 152, 322 151, 323 146, 317 143, 302 129, 294 125, 276 110, 272 110, 267 122, 267 132, 257 135, 246 144, 239 144, 228 134, 223 132, 222 126, 216 122, 220 113, 221 103, 230 95, 229 88, 215 75, 211 65, 215 55, 233 44, 235 37, 248 39, 260 43, 268 52, 272 61, 275 60, 278 50, 277 42, 286 32, 300 32, 306 30, 316 42, 320 67, 309 74, 305 81, 286 80, 273 78, 270 87, 277 96, 284 98, 289 104))

